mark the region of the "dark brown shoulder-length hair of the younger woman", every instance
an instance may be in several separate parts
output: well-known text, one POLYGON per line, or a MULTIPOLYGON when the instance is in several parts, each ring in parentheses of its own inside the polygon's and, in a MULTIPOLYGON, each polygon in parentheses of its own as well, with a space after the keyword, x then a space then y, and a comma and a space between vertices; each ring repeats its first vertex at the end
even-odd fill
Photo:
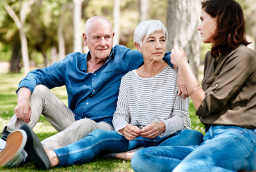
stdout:
POLYGON ((212 35, 212 57, 219 53, 229 53, 240 44, 250 44, 245 37, 243 10, 236 1, 209 0, 201 4, 206 13, 217 17, 216 33, 212 35))

